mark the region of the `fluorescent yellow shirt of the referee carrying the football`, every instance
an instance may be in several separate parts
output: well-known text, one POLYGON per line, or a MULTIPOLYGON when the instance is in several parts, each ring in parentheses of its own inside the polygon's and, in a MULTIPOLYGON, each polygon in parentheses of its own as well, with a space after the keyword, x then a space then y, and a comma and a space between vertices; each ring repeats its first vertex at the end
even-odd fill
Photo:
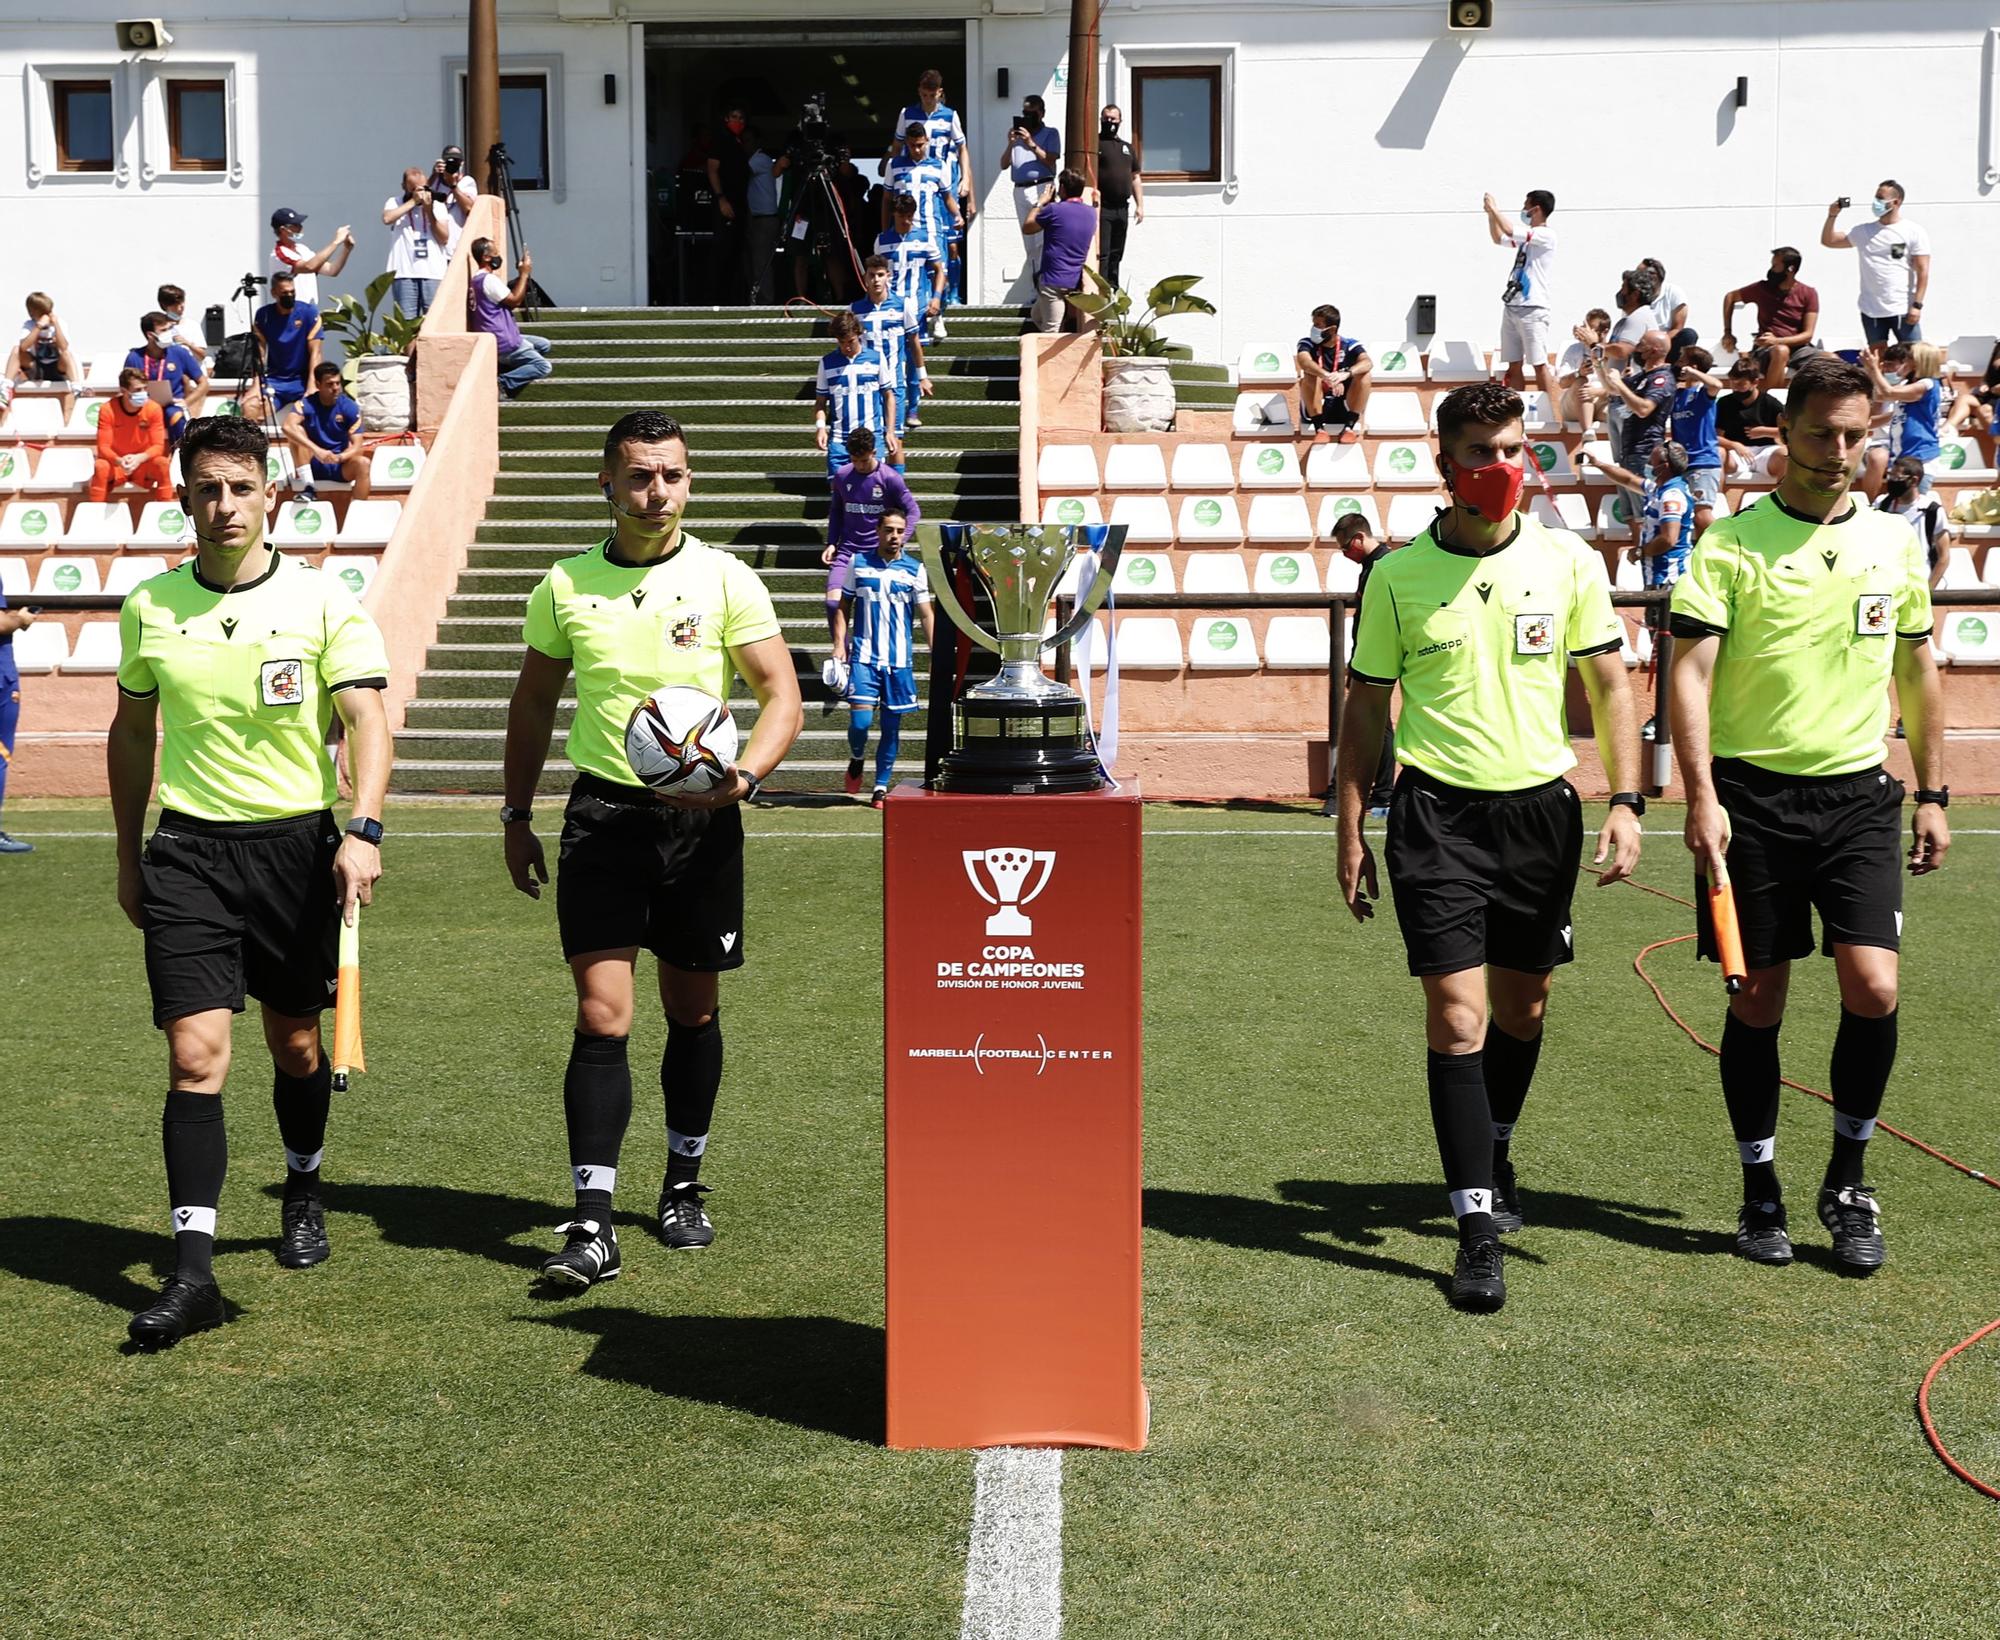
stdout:
POLYGON ((686 530, 656 564, 626 564, 602 540, 562 558, 528 594, 522 638, 576 672, 570 762, 638 786, 624 754, 626 720, 666 684, 730 698, 728 652, 780 632, 770 592, 742 558, 702 546, 686 530))

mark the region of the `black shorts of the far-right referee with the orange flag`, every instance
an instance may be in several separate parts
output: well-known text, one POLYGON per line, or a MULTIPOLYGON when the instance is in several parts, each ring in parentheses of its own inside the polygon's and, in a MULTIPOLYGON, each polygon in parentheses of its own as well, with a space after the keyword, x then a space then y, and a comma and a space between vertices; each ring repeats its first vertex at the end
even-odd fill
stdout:
MULTIPOLYGON (((1772 968, 1834 946, 1902 948, 1902 782, 1882 768, 1808 780, 1740 758, 1710 764, 1730 816, 1730 884, 1744 962, 1772 968)), ((1716 962, 1708 882, 1696 876, 1700 954, 1716 962)))

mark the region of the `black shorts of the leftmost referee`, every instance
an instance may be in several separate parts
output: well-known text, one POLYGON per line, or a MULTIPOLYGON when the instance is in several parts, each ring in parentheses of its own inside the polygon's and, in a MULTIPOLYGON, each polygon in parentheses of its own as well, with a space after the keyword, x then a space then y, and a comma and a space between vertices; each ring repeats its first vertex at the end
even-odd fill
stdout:
POLYGON ((280 1014, 322 1012, 340 972, 338 852, 324 808, 254 822, 162 810, 140 860, 152 1022, 240 1014, 246 992, 280 1014))

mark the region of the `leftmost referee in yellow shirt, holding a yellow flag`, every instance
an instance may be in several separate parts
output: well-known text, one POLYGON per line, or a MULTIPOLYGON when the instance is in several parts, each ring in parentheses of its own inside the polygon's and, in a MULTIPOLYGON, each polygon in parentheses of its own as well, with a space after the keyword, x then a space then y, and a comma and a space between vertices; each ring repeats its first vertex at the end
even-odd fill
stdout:
POLYGON ((320 1012, 340 918, 382 876, 388 654, 348 590, 264 542, 276 502, 256 422, 210 416, 180 444, 194 558, 140 582, 118 618, 118 714, 106 742, 118 904, 146 934, 152 1022, 166 1032, 162 1114, 174 1276, 132 1318, 146 1350, 224 1318, 212 1252, 228 1166, 230 1016, 254 996, 284 1140, 278 1262, 328 1256, 320 1156, 332 1066, 320 1012), (326 730, 348 728, 354 818, 334 824, 326 730), (144 838, 160 736, 160 824, 144 838))

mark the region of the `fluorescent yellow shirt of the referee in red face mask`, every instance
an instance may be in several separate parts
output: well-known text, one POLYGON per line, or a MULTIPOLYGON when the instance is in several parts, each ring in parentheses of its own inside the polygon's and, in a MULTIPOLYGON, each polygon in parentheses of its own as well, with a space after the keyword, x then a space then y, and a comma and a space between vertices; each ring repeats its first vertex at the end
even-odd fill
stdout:
POLYGON ((1476 792, 1566 774, 1568 658, 1624 640, 1604 560, 1526 514, 1488 554, 1440 546, 1432 530, 1374 566, 1354 624, 1354 676, 1402 684, 1396 762, 1476 792))

